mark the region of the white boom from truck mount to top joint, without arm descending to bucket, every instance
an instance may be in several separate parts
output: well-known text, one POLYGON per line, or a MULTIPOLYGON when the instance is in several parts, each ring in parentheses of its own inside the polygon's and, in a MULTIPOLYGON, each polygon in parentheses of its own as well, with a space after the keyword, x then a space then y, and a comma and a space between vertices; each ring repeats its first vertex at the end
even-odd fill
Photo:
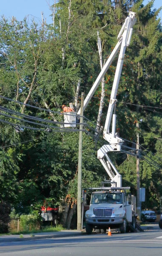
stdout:
POLYGON ((102 146, 97 152, 98 159, 101 161, 102 165, 104 166, 104 169, 109 175, 110 180, 114 182, 111 185, 112 187, 122 186, 122 175, 119 174, 116 167, 113 165, 112 161, 108 157, 107 153, 110 151, 121 151, 121 145, 124 142, 121 138, 116 136, 116 114, 115 113, 113 114, 113 108, 116 105, 116 94, 117 94, 119 80, 122 72, 125 49, 130 44, 130 39, 133 32, 132 26, 134 25, 135 22, 136 22, 135 13, 130 12, 129 17, 127 17, 127 19, 125 20, 122 26, 122 29, 118 35, 118 38, 120 38, 122 35, 122 45, 121 45, 118 63, 116 67, 116 73, 113 81, 113 88, 110 96, 110 104, 107 111, 107 118, 104 126, 104 134, 103 134, 104 139, 107 140, 110 143, 110 145, 102 146), (112 116, 113 116, 112 133, 109 133, 112 116))

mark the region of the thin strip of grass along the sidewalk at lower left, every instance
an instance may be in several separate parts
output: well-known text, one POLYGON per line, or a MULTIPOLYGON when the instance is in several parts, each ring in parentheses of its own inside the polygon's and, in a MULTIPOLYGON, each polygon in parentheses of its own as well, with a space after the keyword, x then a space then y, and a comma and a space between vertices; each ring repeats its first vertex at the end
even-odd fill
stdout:
POLYGON ((9 235, 20 235, 20 234, 33 234, 33 233, 44 233, 44 232, 58 232, 64 230, 64 228, 62 227, 62 225, 58 224, 56 227, 43 227, 40 230, 21 230, 19 232, 13 232, 10 231, 7 234, 0 234, 0 236, 9 236, 9 235))

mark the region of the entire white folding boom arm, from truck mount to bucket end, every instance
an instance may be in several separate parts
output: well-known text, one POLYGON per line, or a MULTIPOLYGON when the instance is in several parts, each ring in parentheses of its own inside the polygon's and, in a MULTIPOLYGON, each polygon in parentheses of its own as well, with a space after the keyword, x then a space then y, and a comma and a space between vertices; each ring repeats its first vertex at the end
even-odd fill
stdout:
MULTIPOLYGON (((84 109, 87 107, 88 103, 90 102, 90 99, 92 98, 95 90, 97 89, 98 85, 100 84, 102 78, 104 77, 105 73, 107 72, 107 69, 110 67, 110 64, 112 63, 113 59, 115 58, 119 48, 119 58, 118 63, 116 67, 116 73, 113 81, 113 88, 110 96, 110 103, 109 108, 107 111, 107 118, 104 126, 104 134, 103 137, 107 142, 109 142, 109 145, 103 145, 97 152, 98 159, 101 161, 102 165, 104 166, 104 169, 106 170, 107 174, 110 177, 110 180, 113 181, 111 187, 122 187, 122 175, 119 174, 116 167, 113 165, 113 162, 108 157, 107 153, 110 151, 121 151, 121 145, 124 142, 121 138, 119 138, 116 135, 116 114, 113 114, 113 108, 116 105, 116 94, 119 86, 119 80, 122 72, 123 67, 123 61, 124 61, 124 54, 126 47, 130 44, 130 39, 133 32, 133 25, 136 23, 135 18, 136 13, 135 12, 129 12, 129 16, 125 19, 125 22, 122 26, 122 29, 119 32, 118 35, 118 43, 116 44, 116 47, 113 49, 113 52, 111 53, 110 57, 108 58, 106 64, 104 65, 103 69, 101 70, 98 78, 96 79, 95 83, 93 84, 93 87, 91 88, 90 92, 88 93, 86 99, 84 100, 84 109), (110 130, 110 122, 113 116, 113 122, 112 122, 112 133, 109 132, 110 130)), ((77 113, 80 114, 80 109, 77 113)))

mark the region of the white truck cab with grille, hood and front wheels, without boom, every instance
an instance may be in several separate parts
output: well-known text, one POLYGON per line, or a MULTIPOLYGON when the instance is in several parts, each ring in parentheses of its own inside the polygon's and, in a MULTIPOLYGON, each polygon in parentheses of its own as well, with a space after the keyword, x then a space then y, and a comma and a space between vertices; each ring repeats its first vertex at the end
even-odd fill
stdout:
POLYGON ((126 200, 124 188, 93 188, 89 203, 86 203, 87 190, 84 191, 86 233, 91 234, 93 229, 96 233, 106 233, 109 227, 119 228, 121 233, 126 233, 127 220, 132 222, 132 205, 130 198, 126 200))

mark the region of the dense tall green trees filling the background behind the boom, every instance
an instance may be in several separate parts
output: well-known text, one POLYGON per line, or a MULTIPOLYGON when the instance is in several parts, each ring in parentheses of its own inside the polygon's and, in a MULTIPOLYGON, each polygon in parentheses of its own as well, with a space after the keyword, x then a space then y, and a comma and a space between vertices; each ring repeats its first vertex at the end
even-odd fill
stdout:
MULTIPOLYGON (((137 22, 125 54, 119 84, 117 132, 133 142, 136 142, 136 134, 139 133, 142 146, 154 155, 148 151, 145 153, 160 165, 162 27, 157 17, 159 10, 152 10, 153 1, 146 6, 142 2, 73 0, 69 6, 68 0, 59 0, 54 26, 42 24, 39 27, 35 20, 29 25, 26 19, 22 22, 1 19, 0 94, 40 108, 61 111, 62 104, 72 102, 75 98, 78 81, 81 81, 79 95, 81 91, 87 94, 98 76, 97 31, 102 41, 103 58, 106 60, 116 45, 116 37, 127 12, 132 10, 136 12, 137 22), (143 122, 137 128, 136 123, 141 118, 143 122)), ((105 105, 100 125, 104 125, 106 119, 116 62, 117 57, 105 75, 105 105)), ((94 129, 100 97, 101 88, 98 87, 84 112, 93 121, 93 125, 91 122, 90 125, 94 129)), ((62 121, 59 114, 52 115, 51 112, 22 107, 4 99, 0 99, 0 105, 34 117, 62 121)), ((17 119, 4 116, 5 111, 1 112, 0 119, 19 123, 17 119)), ((15 117, 14 114, 12 116, 15 117)), ((20 123, 40 128, 24 121, 20 123)), ((20 215, 33 213, 32 216, 35 216, 35 211, 37 215, 42 205, 58 206, 67 194, 76 200, 78 133, 47 134, 45 131, 25 129, 23 134, 17 134, 12 125, 3 122, 0 122, 0 129, 1 201, 11 202, 20 215), (13 144, 16 146, 13 147, 13 144)), ((127 145, 132 146, 131 143, 127 145)), ((101 143, 96 143, 84 134, 82 185, 85 187, 100 185, 107 175, 97 160, 97 149, 101 146, 101 143)), ((135 158, 116 154, 112 155, 112 159, 123 175, 123 185, 130 185, 135 193, 135 158)), ((146 205, 158 205, 161 170, 157 171, 140 160, 140 177, 141 185, 147 189, 146 205)), ((33 220, 33 223, 36 222, 33 220)), ((28 224, 24 225, 29 227, 28 224)))

